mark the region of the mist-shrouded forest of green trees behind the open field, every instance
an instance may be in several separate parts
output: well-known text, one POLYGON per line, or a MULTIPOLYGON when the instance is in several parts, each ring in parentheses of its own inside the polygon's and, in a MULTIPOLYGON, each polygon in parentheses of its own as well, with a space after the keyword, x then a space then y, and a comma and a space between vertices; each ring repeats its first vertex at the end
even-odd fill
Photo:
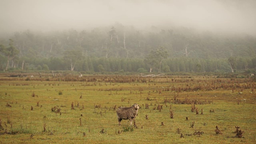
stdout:
POLYGON ((25 30, 0 37, 0 70, 253 73, 256 38, 118 22, 88 30, 25 30))

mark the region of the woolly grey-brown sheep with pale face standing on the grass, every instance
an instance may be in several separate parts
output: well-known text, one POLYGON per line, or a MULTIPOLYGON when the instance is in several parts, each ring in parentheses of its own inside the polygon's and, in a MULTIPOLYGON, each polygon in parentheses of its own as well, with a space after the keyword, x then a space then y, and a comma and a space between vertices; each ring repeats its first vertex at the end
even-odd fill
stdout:
POLYGON ((131 107, 120 107, 116 110, 117 120, 119 126, 121 125, 121 120, 130 120, 130 125, 132 125, 132 120, 134 120, 138 114, 139 109, 138 104, 133 104, 131 107))

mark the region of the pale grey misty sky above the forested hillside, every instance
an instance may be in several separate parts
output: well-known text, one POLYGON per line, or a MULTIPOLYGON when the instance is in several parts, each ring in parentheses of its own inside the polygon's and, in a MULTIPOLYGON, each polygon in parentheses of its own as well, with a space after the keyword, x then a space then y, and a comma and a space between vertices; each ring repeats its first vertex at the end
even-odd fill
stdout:
POLYGON ((0 0, 0 32, 184 26, 256 35, 256 0, 0 0))

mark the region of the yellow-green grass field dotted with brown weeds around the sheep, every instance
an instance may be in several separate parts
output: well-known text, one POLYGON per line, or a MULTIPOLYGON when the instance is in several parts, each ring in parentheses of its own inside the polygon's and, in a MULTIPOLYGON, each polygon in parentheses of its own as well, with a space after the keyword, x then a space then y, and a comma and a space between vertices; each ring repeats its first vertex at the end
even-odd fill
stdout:
POLYGON ((255 88, 250 78, 212 76, 2 75, 0 141, 254 144, 255 88), (128 120, 119 126, 115 109, 134 103, 140 105, 135 126, 128 120))

